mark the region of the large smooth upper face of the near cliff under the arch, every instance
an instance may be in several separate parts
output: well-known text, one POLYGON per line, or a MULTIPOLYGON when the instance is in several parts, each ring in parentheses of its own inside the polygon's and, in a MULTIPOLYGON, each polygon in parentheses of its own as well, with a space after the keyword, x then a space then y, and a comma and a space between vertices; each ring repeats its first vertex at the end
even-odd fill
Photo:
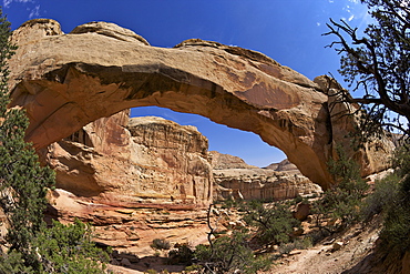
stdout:
POLYGON ((57 187, 114 203, 206 205, 212 199, 207 139, 195 126, 129 111, 99 119, 49 146, 57 187))

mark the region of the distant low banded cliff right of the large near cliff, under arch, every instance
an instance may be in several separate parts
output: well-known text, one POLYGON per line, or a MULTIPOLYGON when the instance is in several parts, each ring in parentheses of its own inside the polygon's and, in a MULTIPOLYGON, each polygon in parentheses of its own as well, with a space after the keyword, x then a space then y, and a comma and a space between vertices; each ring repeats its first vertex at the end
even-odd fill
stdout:
POLYGON ((211 152, 215 179, 214 200, 278 201, 320 194, 322 190, 301 175, 288 160, 259 169, 237 156, 211 152))

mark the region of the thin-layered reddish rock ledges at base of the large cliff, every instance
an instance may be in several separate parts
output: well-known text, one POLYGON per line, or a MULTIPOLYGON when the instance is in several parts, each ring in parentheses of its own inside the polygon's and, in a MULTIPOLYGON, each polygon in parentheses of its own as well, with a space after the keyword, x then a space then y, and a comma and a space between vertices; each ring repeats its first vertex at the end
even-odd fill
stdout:
POLYGON ((95 229, 94 241, 116 251, 146 256, 153 253, 150 244, 157 237, 192 242, 201 237, 206 241, 206 210, 195 206, 120 203, 76 196, 61 189, 50 191, 48 196, 53 207, 48 215, 62 223, 71 223, 74 219, 91 222, 95 229))

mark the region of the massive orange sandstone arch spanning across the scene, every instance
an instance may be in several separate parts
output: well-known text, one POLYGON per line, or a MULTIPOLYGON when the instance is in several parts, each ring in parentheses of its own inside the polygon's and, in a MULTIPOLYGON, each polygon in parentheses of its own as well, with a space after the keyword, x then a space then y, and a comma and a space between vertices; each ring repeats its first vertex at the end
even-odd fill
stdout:
POLYGON ((326 162, 349 126, 336 136, 319 84, 262 53, 202 40, 156 48, 104 22, 64 34, 48 19, 28 21, 13 41, 11 106, 27 109, 38 149, 123 109, 158 105, 255 132, 330 185, 326 162))

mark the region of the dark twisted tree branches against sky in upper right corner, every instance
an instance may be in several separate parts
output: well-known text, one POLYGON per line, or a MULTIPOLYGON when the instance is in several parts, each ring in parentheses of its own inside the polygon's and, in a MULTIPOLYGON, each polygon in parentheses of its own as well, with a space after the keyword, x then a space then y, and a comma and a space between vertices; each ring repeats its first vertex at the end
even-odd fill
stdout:
POLYGON ((410 8, 403 0, 361 0, 375 19, 362 37, 346 21, 328 24, 338 41, 330 47, 341 54, 340 74, 363 95, 344 101, 362 104, 368 113, 361 124, 366 135, 380 129, 410 130, 410 8), (407 120, 407 123, 403 122, 407 120))

